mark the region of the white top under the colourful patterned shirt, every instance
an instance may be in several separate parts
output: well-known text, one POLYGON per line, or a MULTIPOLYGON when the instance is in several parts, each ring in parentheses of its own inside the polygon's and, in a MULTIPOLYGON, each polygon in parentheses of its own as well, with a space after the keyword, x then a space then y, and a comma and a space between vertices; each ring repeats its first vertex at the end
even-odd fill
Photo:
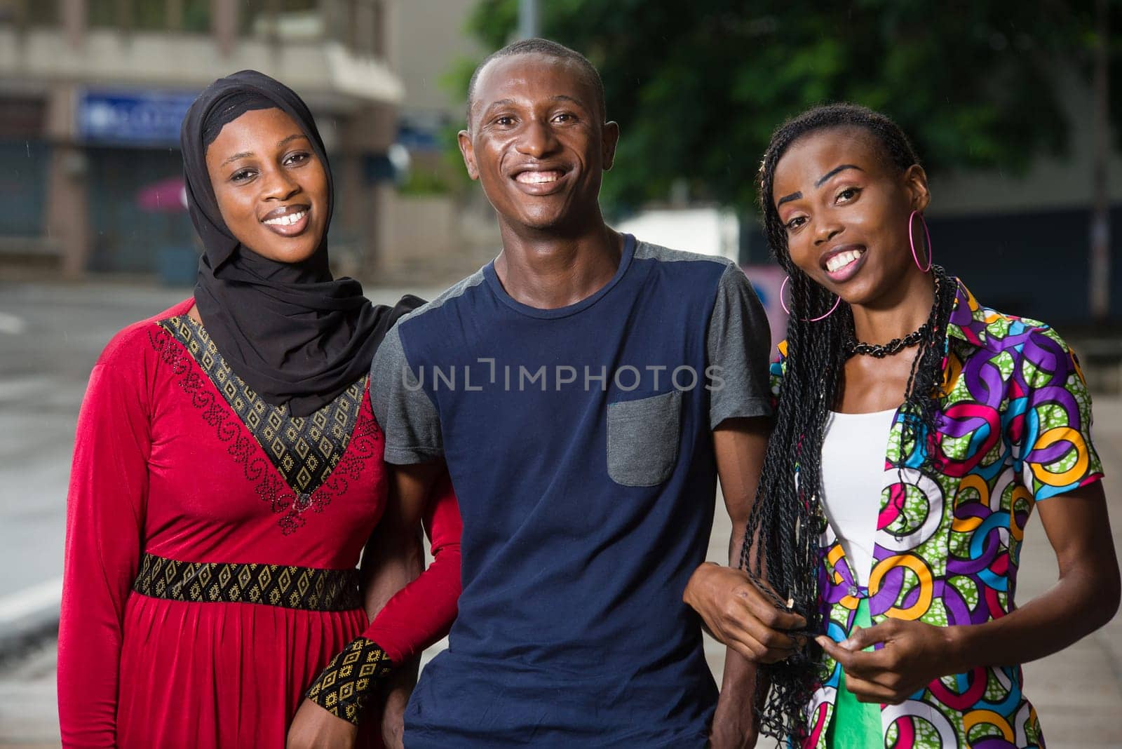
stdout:
POLYGON ((868 588, 876 516, 884 488, 884 454, 896 409, 826 417, 822 440, 822 509, 842 542, 857 584, 868 588))

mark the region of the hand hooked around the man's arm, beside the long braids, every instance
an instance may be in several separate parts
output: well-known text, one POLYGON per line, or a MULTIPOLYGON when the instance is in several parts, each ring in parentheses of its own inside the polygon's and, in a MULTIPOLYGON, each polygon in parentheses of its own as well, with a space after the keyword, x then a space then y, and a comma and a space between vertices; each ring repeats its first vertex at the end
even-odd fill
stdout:
POLYGON ((801 645, 784 630, 802 629, 807 621, 778 609, 741 570, 702 564, 682 594, 701 614, 715 638, 755 663, 776 663, 801 645))

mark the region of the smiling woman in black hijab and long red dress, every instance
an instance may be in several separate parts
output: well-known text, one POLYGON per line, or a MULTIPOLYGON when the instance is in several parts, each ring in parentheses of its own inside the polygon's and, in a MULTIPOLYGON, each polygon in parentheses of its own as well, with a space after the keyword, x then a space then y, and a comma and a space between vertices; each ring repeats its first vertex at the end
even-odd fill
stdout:
POLYGON ((388 688, 381 733, 399 746, 399 666, 459 594, 447 475, 388 471, 370 409, 374 352, 421 300, 374 306, 332 278, 331 172, 288 87, 215 81, 181 142, 194 297, 110 342, 79 422, 63 743, 284 747, 297 708, 288 746, 366 743, 388 688), (435 562, 417 577, 422 516, 435 562))

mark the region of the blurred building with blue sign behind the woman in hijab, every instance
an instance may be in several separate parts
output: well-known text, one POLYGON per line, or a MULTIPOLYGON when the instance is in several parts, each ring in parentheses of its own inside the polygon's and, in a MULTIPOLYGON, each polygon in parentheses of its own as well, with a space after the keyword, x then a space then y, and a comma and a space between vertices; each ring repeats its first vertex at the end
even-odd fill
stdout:
POLYGON ((403 85, 396 0, 0 0, 0 266, 191 280, 178 131, 243 68, 312 108, 335 175, 332 257, 369 274, 403 85))

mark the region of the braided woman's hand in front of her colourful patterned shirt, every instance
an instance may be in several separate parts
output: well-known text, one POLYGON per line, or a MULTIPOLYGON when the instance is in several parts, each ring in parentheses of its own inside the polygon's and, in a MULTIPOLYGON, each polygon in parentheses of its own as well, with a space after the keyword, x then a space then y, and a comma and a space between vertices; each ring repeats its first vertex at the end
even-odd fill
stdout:
POLYGON ((858 701, 898 705, 936 678, 966 669, 955 655, 958 630, 889 619, 867 629, 855 628, 842 642, 828 637, 816 640, 842 665, 846 688, 858 701), (876 642, 884 647, 864 651, 876 642))

